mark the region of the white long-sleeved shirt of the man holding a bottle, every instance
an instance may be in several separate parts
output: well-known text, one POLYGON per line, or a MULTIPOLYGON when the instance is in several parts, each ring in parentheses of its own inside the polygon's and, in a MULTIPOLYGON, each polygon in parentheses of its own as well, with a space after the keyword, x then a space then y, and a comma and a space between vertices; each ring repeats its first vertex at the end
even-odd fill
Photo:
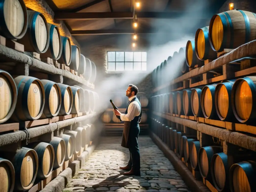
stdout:
MULTIPOLYGON (((134 95, 133 97, 129 98, 129 101, 133 100, 136 97, 134 95)), ((127 114, 120 114, 120 119, 122 121, 132 121, 134 117, 139 116, 141 114, 141 108, 137 101, 133 101, 128 106, 127 114)))

